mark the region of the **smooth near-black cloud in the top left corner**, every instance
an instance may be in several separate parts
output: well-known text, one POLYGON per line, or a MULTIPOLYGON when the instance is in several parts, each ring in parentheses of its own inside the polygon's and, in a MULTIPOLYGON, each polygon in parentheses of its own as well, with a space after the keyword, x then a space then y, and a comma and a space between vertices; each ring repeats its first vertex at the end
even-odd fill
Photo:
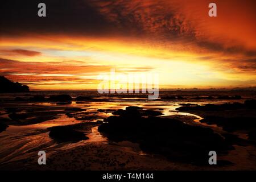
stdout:
POLYGON ((46 17, 38 16, 38 0, 3 1, 0 6, 1 34, 83 33, 100 34, 112 28, 88 2, 46 0, 46 17))

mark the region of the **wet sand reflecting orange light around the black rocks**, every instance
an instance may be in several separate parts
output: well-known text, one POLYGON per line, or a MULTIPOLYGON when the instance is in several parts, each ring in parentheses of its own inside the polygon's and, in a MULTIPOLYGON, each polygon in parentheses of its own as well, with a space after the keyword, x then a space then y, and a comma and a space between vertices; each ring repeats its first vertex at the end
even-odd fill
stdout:
MULTIPOLYGON (((14 102, 1 103, 1 122, 9 127, 0 133, 0 169, 1 170, 255 170, 256 150, 254 144, 233 144, 234 150, 220 156, 232 165, 227 166, 196 166, 193 164, 172 161, 165 156, 142 151, 138 143, 113 142, 97 131, 104 118, 113 115, 113 111, 125 109, 127 106, 140 106, 143 109, 163 113, 158 117, 177 119, 192 126, 209 127, 215 133, 225 134, 221 127, 201 123, 207 117, 206 111, 177 111, 179 104, 208 103, 221 104, 232 102, 226 100, 182 100, 142 102, 121 100, 109 102, 72 101, 71 104, 57 105, 48 102, 14 102), (121 101, 120 101, 121 100, 121 101), (8 111, 6 108, 18 108, 18 111, 8 111), (77 108, 77 109, 71 109, 77 108), (99 110, 100 109, 100 110, 99 110), (9 112, 9 113, 8 113, 9 112), (27 114, 21 119, 11 119, 11 113, 27 114), (82 125, 80 125, 82 124, 82 125), (71 126, 73 125, 73 126, 71 126), (80 142, 56 142, 49 137, 49 128, 67 126, 80 131, 89 139, 80 142), (47 153, 47 165, 38 165, 38 151, 47 153)), ((244 100, 240 100, 243 102, 244 100)), ((210 115, 247 115, 255 117, 251 110, 215 111, 210 115)), ((19 117, 19 115, 18 115, 19 117)), ((247 139, 246 134, 234 132, 238 137, 247 139)), ((164 140, 164 139, 163 139, 164 140)))

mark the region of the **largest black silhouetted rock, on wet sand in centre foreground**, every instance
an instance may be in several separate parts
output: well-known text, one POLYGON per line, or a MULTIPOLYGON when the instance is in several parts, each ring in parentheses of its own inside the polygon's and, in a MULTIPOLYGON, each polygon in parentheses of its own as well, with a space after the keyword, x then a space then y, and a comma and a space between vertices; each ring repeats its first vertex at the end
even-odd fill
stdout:
POLYGON ((208 164, 209 151, 224 154, 233 150, 232 145, 212 129, 187 125, 176 119, 110 116, 98 131, 115 142, 139 143, 143 151, 187 163, 208 164))

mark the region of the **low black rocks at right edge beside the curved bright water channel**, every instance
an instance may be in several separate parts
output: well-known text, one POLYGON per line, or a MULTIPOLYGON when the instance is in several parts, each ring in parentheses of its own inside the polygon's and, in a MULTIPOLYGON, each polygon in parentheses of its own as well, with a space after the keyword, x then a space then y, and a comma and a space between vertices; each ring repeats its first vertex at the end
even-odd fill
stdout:
POLYGON ((176 110, 188 111, 190 113, 204 113, 204 119, 201 119, 200 122, 220 126, 228 132, 242 131, 243 133, 250 133, 251 130, 256 130, 256 117, 255 114, 251 114, 255 113, 255 108, 256 101, 247 100, 244 104, 234 102, 232 104, 221 105, 181 106, 176 110), (225 112, 229 114, 223 114, 225 112), (218 116, 218 113, 222 114, 218 116), (249 115, 246 115, 246 113, 249 115))

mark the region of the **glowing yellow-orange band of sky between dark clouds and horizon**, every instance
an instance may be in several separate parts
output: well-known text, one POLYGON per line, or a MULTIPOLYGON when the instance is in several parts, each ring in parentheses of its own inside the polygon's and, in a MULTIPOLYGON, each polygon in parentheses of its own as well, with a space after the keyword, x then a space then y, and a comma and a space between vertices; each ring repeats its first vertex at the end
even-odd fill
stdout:
POLYGON ((112 68, 122 73, 158 72, 160 88, 255 86, 253 72, 223 61, 234 59, 232 55, 199 51, 192 44, 184 50, 183 42, 152 45, 126 38, 7 37, 0 44, 0 56, 5 59, 0 63, 1 75, 42 90, 96 89, 97 75, 112 68), (30 50, 31 55, 11 50, 30 50))

